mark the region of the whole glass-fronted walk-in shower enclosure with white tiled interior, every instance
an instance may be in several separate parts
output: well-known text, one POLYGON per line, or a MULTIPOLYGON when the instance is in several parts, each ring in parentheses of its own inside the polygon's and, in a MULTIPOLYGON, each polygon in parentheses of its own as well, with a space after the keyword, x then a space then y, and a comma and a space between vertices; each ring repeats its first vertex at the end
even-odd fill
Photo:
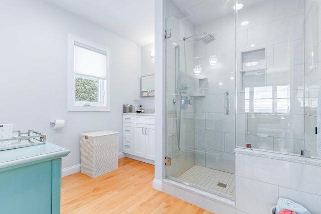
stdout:
POLYGON ((233 200, 236 146, 317 156, 310 2, 166 2, 167 178, 233 200))

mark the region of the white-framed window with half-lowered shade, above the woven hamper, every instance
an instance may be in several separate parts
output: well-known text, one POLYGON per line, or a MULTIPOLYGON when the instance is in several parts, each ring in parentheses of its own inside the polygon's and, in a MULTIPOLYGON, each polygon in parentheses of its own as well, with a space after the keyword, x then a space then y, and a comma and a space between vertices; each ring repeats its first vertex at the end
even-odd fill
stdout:
POLYGON ((68 111, 110 111, 110 50, 68 38, 68 111))

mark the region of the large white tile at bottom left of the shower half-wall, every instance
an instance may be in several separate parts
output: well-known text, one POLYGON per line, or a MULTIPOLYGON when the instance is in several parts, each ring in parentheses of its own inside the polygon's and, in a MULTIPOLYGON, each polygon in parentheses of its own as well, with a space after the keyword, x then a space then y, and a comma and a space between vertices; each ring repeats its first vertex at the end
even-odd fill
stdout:
POLYGON ((278 187, 265 182, 236 176, 235 201, 237 209, 247 213, 269 214, 277 203, 278 187))

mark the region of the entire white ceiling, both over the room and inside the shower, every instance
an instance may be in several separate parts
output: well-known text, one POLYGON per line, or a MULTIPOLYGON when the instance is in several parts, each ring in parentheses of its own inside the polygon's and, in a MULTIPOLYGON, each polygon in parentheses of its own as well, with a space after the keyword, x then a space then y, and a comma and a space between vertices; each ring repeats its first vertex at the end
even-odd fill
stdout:
MULTIPOLYGON (((139 46, 154 43, 155 0, 43 0, 139 46)), ((253 7, 268 0, 239 0, 253 7)), ((172 0, 194 25, 233 14, 234 0, 172 0)))

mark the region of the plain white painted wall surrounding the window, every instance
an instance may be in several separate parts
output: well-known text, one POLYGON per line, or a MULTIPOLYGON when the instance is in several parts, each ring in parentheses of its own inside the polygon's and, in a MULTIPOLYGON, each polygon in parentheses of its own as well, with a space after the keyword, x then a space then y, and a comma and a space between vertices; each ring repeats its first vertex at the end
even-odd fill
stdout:
POLYGON ((0 123, 42 132, 48 142, 70 149, 63 168, 80 164, 80 133, 112 130, 121 136, 122 105, 139 87, 140 47, 42 1, 0 5, 0 123), (67 112, 68 34, 111 49, 110 112, 67 112), (54 130, 54 119, 65 119, 65 128, 54 130))

